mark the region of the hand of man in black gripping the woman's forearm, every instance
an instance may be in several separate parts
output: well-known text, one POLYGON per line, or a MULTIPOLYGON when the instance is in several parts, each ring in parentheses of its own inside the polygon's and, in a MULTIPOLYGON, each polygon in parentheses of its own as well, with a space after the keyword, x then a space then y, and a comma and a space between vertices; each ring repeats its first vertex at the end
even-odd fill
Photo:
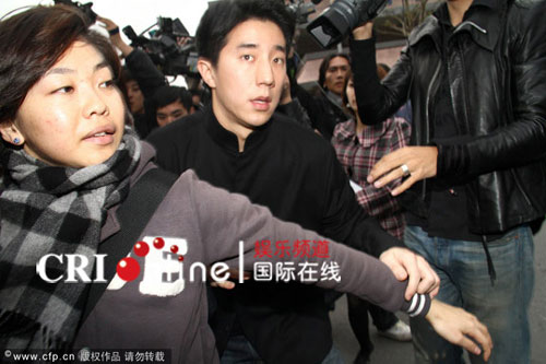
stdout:
POLYGON ((428 262, 407 248, 390 248, 379 256, 399 281, 408 280, 404 294, 406 301, 415 293, 429 294, 435 297, 440 289, 440 278, 428 262))

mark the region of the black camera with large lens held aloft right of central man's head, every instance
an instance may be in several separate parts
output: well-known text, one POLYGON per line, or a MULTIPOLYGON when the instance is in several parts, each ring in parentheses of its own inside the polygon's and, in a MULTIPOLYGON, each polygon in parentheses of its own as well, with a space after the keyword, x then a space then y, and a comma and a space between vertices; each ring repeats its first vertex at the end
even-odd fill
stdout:
POLYGON ((328 48, 343 40, 358 24, 376 17, 385 4, 387 0, 336 0, 307 26, 307 31, 328 48))

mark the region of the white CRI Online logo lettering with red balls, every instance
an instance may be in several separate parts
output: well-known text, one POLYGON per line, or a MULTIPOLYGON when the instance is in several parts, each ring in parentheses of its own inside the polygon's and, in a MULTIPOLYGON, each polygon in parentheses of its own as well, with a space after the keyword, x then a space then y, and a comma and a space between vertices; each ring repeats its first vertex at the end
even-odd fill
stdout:
MULTIPOLYGON (((244 258, 245 244, 239 242, 239 283, 245 280, 244 258)), ((188 253, 188 242, 180 237, 145 236, 133 245, 127 257, 116 266, 116 275, 108 284, 108 290, 119 290, 126 283, 139 280, 139 291, 143 294, 168 296, 180 293, 185 287, 183 260, 188 253)), ((104 275, 106 255, 97 254, 95 258, 95 277, 92 279, 85 269, 90 259, 84 255, 48 254, 39 259, 36 273, 48 283, 107 283, 104 275), (49 267, 47 267, 49 262, 49 267), (63 267, 51 267, 54 265, 63 267), (63 273, 59 273, 62 270, 63 273), (57 274, 57 275, 56 275, 57 274), (54 277, 55 275, 55 277, 54 277)), ((229 278, 229 266, 217 261, 206 267, 200 261, 189 265, 190 282, 205 282, 210 277, 213 281, 224 282, 229 278)))

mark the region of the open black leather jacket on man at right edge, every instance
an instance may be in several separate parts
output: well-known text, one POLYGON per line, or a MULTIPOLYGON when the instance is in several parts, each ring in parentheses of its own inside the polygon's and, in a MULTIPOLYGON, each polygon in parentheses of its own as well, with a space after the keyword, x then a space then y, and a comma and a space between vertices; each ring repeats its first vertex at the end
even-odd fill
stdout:
MULTIPOLYGON (((414 30, 382 84, 373 40, 351 43, 361 119, 380 122, 411 98, 411 143, 438 146, 435 183, 465 186, 475 234, 501 233, 545 214, 545 10, 544 1, 491 0, 490 8, 474 7, 456 26, 444 50, 459 132, 441 142, 430 138, 429 120, 440 84, 438 17, 432 14, 414 30)), ((425 180, 404 193, 417 193, 412 210, 423 216, 427 190, 425 180)))

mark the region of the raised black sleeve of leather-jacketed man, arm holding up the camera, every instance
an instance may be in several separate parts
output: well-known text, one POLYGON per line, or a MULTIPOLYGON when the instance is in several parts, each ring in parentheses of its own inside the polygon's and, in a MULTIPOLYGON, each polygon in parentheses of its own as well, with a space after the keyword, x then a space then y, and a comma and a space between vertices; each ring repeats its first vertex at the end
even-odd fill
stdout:
POLYGON ((391 117, 408 97, 412 63, 405 49, 382 83, 376 66, 375 39, 351 37, 351 69, 355 84, 358 114, 364 124, 373 125, 391 117))

